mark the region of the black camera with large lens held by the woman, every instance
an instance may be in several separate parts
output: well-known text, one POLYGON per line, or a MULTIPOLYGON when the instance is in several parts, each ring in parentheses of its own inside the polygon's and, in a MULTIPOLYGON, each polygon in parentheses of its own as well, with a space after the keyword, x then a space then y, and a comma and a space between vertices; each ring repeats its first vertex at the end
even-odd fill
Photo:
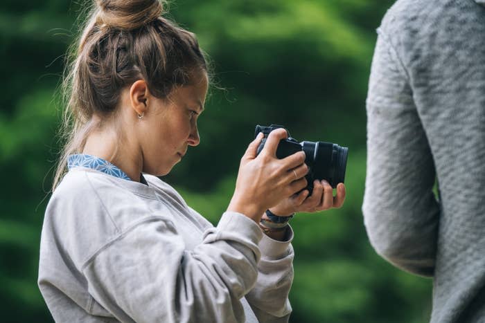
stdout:
MULTIPOLYGON (((263 127, 259 124, 256 125, 254 137, 256 138, 260 132, 264 134, 264 138, 258 146, 257 154, 259 154, 261 150, 263 150, 263 147, 265 147, 267 136, 270 135, 270 132, 279 128, 285 129, 285 127, 276 124, 272 124, 270 127, 263 127)), ((276 157, 281 159, 298 151, 305 152, 305 163, 308 166, 308 174, 305 178, 308 182, 308 186, 303 190, 308 190, 311 194, 313 190, 313 181, 316 179, 319 181, 322 179, 326 180, 333 188, 337 187, 338 183, 344 183, 349 148, 340 147, 332 142, 298 142, 290 137, 290 133, 287 129, 285 130, 286 133, 288 133, 288 138, 280 140, 278 148, 276 149, 276 157)))

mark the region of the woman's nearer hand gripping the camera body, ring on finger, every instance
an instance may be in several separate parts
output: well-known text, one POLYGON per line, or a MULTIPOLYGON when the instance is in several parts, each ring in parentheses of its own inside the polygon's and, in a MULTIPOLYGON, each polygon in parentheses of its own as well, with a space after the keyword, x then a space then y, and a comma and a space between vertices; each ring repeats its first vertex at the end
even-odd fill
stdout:
POLYGON ((245 214, 259 223, 265 210, 306 187, 305 153, 299 151, 283 159, 276 157, 278 144, 285 138, 288 138, 285 129, 271 131, 258 156, 256 152, 263 133, 249 144, 241 158, 236 190, 228 211, 245 214))

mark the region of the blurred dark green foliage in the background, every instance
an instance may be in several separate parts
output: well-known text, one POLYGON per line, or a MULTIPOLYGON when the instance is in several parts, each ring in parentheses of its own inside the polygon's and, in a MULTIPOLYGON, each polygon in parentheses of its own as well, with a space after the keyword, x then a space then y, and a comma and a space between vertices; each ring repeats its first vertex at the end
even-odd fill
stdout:
MULTIPOLYGON (((54 104, 83 1, 0 3, 0 309, 2 322, 51 322, 37 289, 40 230, 59 143, 54 104)), ((365 98, 375 28, 391 0, 180 0, 170 16, 197 34, 213 82, 202 142, 165 181, 217 223, 255 124, 349 147, 344 207, 298 214, 292 322, 427 322, 431 282, 372 250, 360 210, 365 98)))

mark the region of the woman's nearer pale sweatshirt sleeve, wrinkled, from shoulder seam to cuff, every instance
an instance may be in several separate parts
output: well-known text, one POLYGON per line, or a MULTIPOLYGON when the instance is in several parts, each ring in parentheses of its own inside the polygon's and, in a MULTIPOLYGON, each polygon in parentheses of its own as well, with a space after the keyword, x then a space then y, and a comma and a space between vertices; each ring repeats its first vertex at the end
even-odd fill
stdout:
POLYGON ((251 219, 226 212, 188 251, 173 223, 153 216, 82 271, 89 293, 122 322, 244 322, 240 299, 256 283, 262 235, 251 219))

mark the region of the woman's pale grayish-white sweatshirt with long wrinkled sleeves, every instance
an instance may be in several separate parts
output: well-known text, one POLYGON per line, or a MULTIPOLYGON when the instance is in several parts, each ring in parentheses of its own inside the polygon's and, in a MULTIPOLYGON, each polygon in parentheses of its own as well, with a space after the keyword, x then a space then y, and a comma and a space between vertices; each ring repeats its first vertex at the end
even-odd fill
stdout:
POLYGON ((288 322, 294 257, 243 214, 76 167, 48 203, 39 288, 56 322, 288 322))

